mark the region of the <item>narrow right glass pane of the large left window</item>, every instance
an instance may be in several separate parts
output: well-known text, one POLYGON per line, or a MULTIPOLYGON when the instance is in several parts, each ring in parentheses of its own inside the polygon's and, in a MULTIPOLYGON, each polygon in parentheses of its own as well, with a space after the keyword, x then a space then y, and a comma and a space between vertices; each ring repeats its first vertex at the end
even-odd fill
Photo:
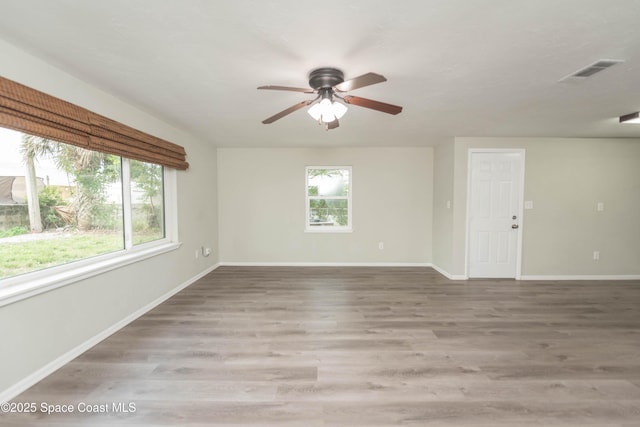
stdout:
POLYGON ((162 166, 129 161, 133 244, 164 238, 162 166))

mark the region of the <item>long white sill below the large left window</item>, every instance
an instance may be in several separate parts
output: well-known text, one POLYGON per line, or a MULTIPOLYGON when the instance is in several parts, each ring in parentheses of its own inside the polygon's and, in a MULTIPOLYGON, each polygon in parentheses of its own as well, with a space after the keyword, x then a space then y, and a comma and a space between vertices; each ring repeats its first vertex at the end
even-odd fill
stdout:
POLYGON ((95 258, 72 262, 44 270, 0 280, 0 307, 13 304, 53 289, 88 279, 125 265, 174 251, 176 242, 156 242, 128 251, 120 251, 95 258))

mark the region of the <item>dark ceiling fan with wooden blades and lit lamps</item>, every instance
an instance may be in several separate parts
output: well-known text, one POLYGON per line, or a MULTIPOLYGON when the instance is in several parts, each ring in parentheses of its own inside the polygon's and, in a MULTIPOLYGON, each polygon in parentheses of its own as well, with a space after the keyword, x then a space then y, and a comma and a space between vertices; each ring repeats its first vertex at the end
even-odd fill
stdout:
POLYGON ((286 90, 302 93, 317 94, 314 99, 299 102, 292 105, 286 110, 282 110, 273 116, 264 119, 262 123, 270 124, 293 113, 303 107, 312 105, 308 112, 320 124, 324 124, 326 129, 335 129, 339 126, 340 119, 347 111, 347 107, 335 101, 338 99, 345 104, 357 105, 359 107, 370 108, 372 110, 381 111, 388 114, 398 114, 402 111, 402 107, 398 105, 387 104, 372 99, 361 98, 359 96, 342 95, 354 89, 373 85, 376 83, 386 82, 387 79, 376 73, 366 73, 355 77, 351 80, 344 80, 344 74, 337 68, 317 68, 309 73, 310 88, 289 87, 289 86, 260 86, 258 89, 268 90, 286 90), (318 101, 318 102, 316 102, 318 101))

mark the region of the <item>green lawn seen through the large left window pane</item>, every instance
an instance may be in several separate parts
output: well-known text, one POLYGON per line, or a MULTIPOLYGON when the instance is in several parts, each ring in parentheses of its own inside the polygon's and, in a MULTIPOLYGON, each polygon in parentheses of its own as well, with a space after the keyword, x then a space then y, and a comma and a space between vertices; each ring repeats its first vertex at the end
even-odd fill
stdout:
POLYGON ((122 248, 120 233, 78 233, 19 243, 3 243, 0 239, 0 279, 122 248))

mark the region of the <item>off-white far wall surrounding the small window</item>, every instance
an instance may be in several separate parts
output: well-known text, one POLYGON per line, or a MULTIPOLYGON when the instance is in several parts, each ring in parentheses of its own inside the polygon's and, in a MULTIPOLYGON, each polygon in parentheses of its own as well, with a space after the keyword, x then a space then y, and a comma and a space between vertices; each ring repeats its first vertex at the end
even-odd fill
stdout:
POLYGON ((431 262, 432 148, 220 148, 218 170, 222 263, 431 262), (305 166, 333 165, 353 232, 305 233, 305 166))

